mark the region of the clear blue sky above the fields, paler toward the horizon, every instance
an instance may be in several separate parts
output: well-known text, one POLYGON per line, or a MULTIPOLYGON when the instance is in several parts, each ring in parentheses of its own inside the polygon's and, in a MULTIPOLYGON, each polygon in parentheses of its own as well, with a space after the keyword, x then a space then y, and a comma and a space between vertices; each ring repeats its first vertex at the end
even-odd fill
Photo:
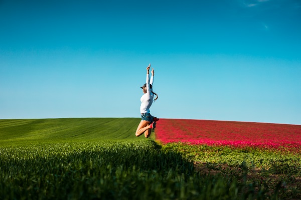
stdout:
POLYGON ((301 2, 0 0, 0 119, 301 124, 301 2))

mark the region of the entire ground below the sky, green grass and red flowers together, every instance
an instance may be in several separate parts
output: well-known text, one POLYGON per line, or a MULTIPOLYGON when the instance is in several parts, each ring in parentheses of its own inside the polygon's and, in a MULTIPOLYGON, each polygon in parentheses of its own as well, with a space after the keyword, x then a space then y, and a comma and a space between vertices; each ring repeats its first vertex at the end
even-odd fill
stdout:
POLYGON ((161 119, 144 138, 139 121, 0 120, 0 199, 301 198, 301 126, 161 119))

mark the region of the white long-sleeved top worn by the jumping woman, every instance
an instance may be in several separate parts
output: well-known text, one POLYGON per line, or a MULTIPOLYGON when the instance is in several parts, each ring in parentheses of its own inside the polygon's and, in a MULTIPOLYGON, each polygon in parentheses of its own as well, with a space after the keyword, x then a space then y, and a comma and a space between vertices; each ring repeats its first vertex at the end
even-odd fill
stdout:
POLYGON ((152 92, 152 90, 150 89, 149 84, 153 85, 154 82, 154 76, 150 77, 150 81, 149 81, 149 74, 146 74, 146 93, 142 95, 142 97, 140 98, 141 101, 141 106, 140 106, 140 113, 150 113, 150 106, 152 106, 153 104, 153 99, 154 99, 154 93, 152 92))

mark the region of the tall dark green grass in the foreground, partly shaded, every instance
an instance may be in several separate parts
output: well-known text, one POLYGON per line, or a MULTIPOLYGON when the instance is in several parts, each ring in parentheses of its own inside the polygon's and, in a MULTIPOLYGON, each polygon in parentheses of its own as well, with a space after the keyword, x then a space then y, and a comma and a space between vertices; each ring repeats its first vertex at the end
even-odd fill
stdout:
POLYGON ((3 199, 273 199, 264 188, 255 192, 246 182, 198 173, 181 153, 153 140, 2 152, 3 199))

